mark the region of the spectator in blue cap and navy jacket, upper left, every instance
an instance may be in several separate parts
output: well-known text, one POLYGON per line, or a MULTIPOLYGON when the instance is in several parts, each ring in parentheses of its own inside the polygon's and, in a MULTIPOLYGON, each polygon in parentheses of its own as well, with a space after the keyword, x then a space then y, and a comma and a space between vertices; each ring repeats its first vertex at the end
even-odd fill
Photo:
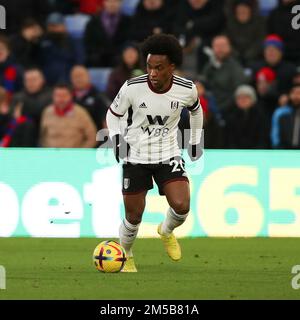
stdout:
POLYGON ((64 17, 60 13, 51 13, 47 19, 47 32, 41 40, 40 65, 47 83, 69 80, 74 58, 74 44, 69 37, 64 17))

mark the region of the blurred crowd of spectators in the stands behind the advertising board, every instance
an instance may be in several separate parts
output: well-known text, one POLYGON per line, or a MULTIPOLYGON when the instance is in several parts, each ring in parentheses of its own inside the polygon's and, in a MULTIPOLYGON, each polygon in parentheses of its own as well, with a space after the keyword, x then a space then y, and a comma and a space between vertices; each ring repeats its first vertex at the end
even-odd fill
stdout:
MULTIPOLYGON (((206 148, 300 148, 300 29, 292 26, 299 0, 0 5, 7 27, 0 33, 0 147, 97 147, 118 90, 146 72, 139 43, 164 32, 183 47, 176 73, 196 84, 206 148)), ((180 129, 187 128, 183 110, 180 129)))

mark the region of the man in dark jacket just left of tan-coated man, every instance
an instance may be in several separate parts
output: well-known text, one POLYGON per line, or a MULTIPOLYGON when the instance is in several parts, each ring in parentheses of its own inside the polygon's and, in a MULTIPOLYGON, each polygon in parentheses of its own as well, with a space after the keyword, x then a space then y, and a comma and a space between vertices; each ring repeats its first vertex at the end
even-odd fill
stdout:
POLYGON ((14 95, 12 108, 22 105, 22 115, 30 118, 36 128, 34 134, 35 144, 38 143, 38 134, 41 115, 52 100, 52 92, 46 86, 42 71, 36 67, 24 72, 24 89, 14 95))

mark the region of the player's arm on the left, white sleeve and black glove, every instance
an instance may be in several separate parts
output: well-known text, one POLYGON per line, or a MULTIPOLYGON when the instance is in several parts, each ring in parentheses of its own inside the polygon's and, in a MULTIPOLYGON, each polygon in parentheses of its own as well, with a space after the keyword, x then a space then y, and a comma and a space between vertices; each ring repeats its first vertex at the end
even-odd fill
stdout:
POLYGON ((130 105, 128 86, 127 82, 125 82, 106 114, 109 137, 113 143, 115 157, 118 162, 120 158, 123 159, 128 156, 130 150, 130 146, 124 140, 120 128, 120 118, 124 116, 130 105))

